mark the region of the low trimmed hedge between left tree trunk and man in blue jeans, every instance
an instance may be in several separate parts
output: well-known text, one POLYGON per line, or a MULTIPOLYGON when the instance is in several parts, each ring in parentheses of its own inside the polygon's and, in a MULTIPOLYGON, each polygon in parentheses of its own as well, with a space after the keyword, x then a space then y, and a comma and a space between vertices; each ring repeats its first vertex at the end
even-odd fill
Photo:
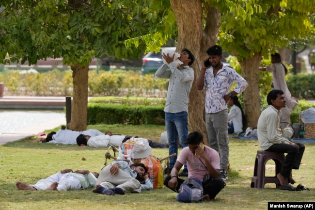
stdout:
POLYGON ((88 104, 88 125, 130 124, 164 125, 164 105, 88 104))

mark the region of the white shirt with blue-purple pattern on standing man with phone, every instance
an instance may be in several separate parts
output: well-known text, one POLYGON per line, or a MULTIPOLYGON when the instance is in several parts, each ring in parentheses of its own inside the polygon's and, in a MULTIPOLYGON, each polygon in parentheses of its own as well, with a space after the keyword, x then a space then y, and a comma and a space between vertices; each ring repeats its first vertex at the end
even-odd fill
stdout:
POLYGON ((216 76, 213 74, 212 66, 205 70, 205 113, 218 113, 227 109, 224 96, 229 94, 234 81, 237 83, 234 91, 238 94, 242 93, 248 86, 247 81, 229 66, 223 65, 216 76))

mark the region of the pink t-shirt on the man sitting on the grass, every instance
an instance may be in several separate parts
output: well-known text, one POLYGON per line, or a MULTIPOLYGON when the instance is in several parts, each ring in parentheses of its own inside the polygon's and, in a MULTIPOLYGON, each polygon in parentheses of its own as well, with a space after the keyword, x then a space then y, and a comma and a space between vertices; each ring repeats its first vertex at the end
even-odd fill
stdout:
MULTIPOLYGON (((219 153, 205 145, 205 154, 207 155, 210 163, 215 169, 220 170, 220 156, 219 153)), ((203 180, 205 174, 208 174, 206 169, 205 160, 197 158, 190 150, 189 147, 183 148, 177 157, 177 161, 184 164, 187 162, 188 177, 198 178, 203 180)))

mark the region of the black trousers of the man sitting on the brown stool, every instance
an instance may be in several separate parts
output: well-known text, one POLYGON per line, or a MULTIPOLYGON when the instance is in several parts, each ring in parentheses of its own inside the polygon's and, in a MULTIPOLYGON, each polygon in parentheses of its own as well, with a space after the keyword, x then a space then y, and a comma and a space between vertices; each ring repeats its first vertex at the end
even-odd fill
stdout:
POLYGON ((294 145, 275 144, 266 150, 269 152, 287 153, 280 172, 280 174, 285 178, 290 176, 292 169, 299 169, 299 165, 303 157, 305 146, 300 143, 295 144, 299 145, 299 149, 294 145))

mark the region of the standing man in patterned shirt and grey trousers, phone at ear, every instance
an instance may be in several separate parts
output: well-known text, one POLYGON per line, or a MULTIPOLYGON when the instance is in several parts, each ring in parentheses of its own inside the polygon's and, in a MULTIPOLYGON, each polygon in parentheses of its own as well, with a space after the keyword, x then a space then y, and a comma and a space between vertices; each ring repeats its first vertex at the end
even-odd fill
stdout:
POLYGON ((242 93, 248 86, 236 70, 222 64, 222 48, 214 45, 208 48, 209 58, 203 64, 197 89, 206 89, 205 93, 205 127, 211 148, 220 152, 220 178, 227 180, 229 162, 228 108, 232 97, 242 93), (230 92, 233 82, 237 86, 230 92))

